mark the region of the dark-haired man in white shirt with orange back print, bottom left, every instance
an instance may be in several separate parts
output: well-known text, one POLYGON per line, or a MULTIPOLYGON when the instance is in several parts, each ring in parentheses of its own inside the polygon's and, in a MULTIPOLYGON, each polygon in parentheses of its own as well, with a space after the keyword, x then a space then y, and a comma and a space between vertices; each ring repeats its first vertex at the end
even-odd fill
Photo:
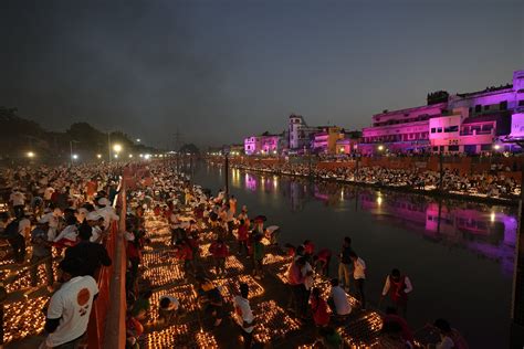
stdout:
POLYGON ((77 258, 59 265, 64 283, 50 299, 44 326, 49 336, 41 348, 73 349, 84 338, 98 286, 92 276, 78 276, 81 266, 77 258))

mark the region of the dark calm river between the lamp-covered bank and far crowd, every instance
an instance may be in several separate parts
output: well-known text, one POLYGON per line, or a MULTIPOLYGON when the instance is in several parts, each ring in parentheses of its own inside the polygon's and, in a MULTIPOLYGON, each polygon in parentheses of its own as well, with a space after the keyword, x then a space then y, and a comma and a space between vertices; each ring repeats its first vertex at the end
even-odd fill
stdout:
MULTIPOLYGON (((221 168, 198 163, 196 183, 216 193, 221 168)), ((230 170, 230 193, 250 215, 281 226, 280 243, 312 240, 334 252, 342 240, 367 264, 366 297, 378 304, 392 267, 409 276, 408 321, 413 329, 442 317, 471 348, 507 348, 517 209, 419 194, 230 170), (440 212, 440 222, 439 222, 440 212)))

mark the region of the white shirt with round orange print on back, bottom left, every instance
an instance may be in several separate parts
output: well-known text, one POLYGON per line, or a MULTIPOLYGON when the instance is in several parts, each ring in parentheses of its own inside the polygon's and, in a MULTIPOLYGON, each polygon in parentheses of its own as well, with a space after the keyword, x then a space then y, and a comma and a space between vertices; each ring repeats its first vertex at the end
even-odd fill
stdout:
POLYGON ((76 276, 62 285, 49 303, 48 318, 60 319, 60 325, 48 336, 48 347, 57 347, 85 334, 97 293, 98 286, 91 276, 76 276))

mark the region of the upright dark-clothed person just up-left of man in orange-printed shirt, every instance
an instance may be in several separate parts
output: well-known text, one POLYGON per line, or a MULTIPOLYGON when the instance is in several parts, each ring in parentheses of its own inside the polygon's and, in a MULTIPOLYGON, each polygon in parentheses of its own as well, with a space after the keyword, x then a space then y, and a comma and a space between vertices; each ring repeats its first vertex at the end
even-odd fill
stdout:
POLYGON ((45 264, 45 275, 48 277, 48 290, 53 290, 53 243, 48 240, 49 216, 44 215, 36 223, 36 228, 31 232, 31 243, 33 245, 33 254, 30 261, 31 286, 36 287, 39 265, 45 264))

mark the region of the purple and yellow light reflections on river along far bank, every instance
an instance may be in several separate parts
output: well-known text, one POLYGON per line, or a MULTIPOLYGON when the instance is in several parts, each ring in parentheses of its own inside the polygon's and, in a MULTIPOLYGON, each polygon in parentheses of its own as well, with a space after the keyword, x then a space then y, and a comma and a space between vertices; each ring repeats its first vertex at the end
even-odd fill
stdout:
POLYGON ((436 201, 418 194, 377 191, 333 182, 232 170, 232 186, 286 198, 292 211, 311 200, 336 210, 366 211, 378 221, 399 224, 425 239, 450 247, 467 248, 500 262, 503 274, 513 273, 516 210, 457 200, 436 201))

